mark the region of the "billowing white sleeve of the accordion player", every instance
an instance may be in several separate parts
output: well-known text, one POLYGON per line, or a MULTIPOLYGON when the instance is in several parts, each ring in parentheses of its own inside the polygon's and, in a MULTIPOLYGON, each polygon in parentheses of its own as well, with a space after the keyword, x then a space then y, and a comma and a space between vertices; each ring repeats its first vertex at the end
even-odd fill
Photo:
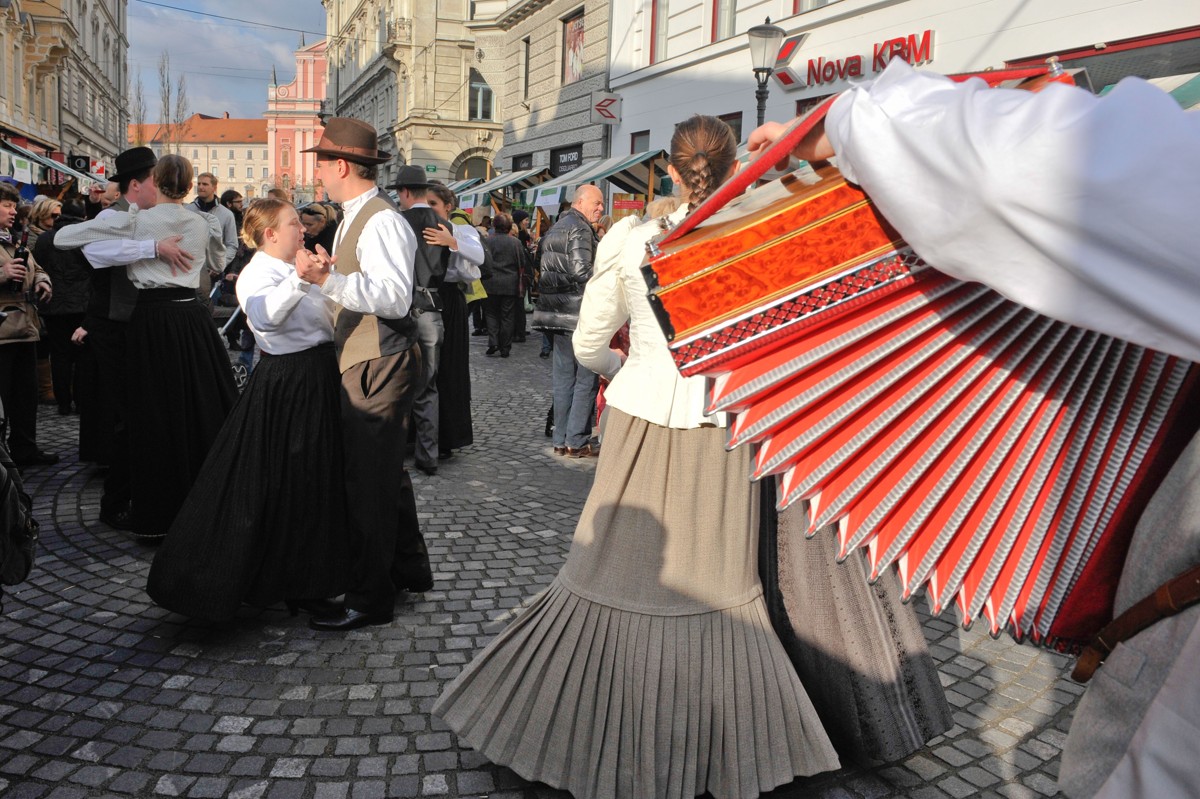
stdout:
POLYGON ((1200 114, 1165 92, 1136 78, 1104 97, 986 89, 896 60, 826 131, 934 266, 1200 360, 1200 114))

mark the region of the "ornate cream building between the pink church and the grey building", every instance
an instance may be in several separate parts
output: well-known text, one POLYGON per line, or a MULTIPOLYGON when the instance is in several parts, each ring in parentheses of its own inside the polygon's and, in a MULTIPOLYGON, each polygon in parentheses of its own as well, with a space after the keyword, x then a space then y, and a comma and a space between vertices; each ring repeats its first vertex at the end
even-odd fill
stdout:
MULTIPOLYGON (((451 182, 486 178, 500 146, 500 109, 479 66, 469 0, 323 0, 329 48, 324 113, 373 125, 401 166, 451 182)), ((498 55, 498 54, 497 54, 498 55)), ((503 70, 503 62, 496 68, 503 70)))

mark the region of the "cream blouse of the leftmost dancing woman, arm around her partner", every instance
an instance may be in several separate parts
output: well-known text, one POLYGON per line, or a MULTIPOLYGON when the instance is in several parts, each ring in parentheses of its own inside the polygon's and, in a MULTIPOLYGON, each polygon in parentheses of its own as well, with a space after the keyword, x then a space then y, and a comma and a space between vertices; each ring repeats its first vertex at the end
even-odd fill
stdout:
MULTIPOLYGON (((68 224, 54 236, 60 250, 106 240, 132 240, 152 242, 173 235, 181 235, 179 246, 193 256, 202 256, 186 272, 172 274, 169 264, 152 256, 128 262, 130 281, 139 289, 191 288, 200 283, 205 268, 221 270, 224 266, 224 244, 221 226, 211 215, 192 214, 179 203, 160 203, 151 209, 116 211, 88 222, 68 224)), ((86 254, 86 252, 85 252, 86 254)))

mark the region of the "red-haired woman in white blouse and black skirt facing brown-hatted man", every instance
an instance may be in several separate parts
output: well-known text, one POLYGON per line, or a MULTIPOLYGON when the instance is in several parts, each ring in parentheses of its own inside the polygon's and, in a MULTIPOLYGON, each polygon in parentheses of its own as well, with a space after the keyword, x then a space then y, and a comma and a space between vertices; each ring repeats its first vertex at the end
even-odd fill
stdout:
POLYGON ((349 587, 334 304, 296 275, 304 228, 262 199, 242 240, 257 250, 238 304, 262 350, 246 390, 150 567, 161 606, 220 621, 245 602, 326 614, 349 587))

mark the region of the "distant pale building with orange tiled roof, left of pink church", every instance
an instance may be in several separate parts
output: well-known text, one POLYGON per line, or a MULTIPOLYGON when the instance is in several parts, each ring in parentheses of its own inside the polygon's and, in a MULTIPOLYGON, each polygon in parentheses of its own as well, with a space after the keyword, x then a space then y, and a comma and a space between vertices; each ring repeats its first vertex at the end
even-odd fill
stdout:
POLYGON ((158 124, 138 131, 130 125, 128 140, 142 142, 160 156, 176 152, 190 160, 197 173, 212 173, 218 194, 234 188, 242 197, 262 197, 275 186, 265 119, 230 119, 228 112, 222 116, 192 114, 178 131, 158 124))

